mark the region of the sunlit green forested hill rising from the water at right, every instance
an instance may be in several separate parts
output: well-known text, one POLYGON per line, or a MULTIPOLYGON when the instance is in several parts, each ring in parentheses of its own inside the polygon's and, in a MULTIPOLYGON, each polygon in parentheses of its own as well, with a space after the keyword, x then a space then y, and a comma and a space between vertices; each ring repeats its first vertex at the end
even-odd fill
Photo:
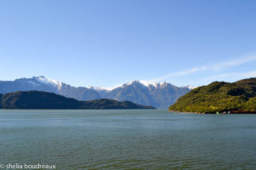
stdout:
POLYGON ((256 113, 256 78, 212 82, 195 88, 170 106, 170 111, 256 113))

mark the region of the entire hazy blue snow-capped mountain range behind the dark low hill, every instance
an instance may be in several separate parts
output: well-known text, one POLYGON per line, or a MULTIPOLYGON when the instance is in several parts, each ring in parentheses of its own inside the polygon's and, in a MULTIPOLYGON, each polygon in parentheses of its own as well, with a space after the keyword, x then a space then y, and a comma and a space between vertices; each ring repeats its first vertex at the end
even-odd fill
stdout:
POLYGON ((130 100, 140 105, 153 105, 156 108, 168 108, 175 101, 187 94, 191 88, 177 87, 168 82, 148 83, 133 81, 112 90, 104 88, 73 87, 64 82, 47 77, 20 78, 15 81, 0 81, 0 94, 16 91, 44 91, 60 94, 78 100, 116 99, 130 100))

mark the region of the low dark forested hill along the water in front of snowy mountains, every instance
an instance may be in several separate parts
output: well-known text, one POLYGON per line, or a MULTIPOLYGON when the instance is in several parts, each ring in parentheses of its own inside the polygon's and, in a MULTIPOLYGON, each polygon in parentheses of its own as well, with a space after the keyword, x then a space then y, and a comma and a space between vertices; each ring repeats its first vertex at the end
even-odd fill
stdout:
POLYGON ((26 91, 0 94, 0 109, 154 109, 154 107, 113 99, 79 101, 54 93, 26 91))

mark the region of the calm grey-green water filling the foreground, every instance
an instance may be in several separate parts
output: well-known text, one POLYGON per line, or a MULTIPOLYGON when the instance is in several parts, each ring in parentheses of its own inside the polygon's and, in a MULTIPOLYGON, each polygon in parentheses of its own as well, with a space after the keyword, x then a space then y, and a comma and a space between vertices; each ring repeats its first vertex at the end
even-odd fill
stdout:
POLYGON ((256 169, 256 115, 0 111, 0 164, 57 169, 256 169))

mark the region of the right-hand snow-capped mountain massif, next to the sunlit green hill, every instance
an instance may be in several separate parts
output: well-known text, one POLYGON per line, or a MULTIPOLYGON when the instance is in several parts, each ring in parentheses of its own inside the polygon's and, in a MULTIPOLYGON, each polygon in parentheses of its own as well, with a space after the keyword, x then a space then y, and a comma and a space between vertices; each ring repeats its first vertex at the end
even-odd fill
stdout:
POLYGON ((117 100, 131 100, 141 105, 154 105, 157 108, 168 108, 179 97, 187 94, 189 88, 178 88, 170 83, 144 84, 134 81, 114 88, 104 98, 117 100))

